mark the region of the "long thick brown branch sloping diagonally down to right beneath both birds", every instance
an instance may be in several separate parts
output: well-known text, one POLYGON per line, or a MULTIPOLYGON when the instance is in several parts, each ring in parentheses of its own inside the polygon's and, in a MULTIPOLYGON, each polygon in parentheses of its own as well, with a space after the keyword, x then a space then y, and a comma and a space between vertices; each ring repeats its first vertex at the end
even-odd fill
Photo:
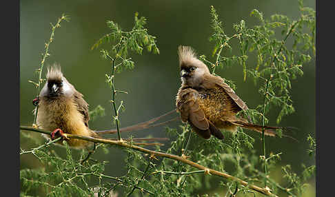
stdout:
MULTIPOLYGON (((43 134, 50 134, 51 133, 49 131, 45 131, 45 130, 42 130, 42 129, 35 129, 35 128, 32 128, 32 127, 20 126, 20 129, 21 130, 28 130, 28 131, 32 131, 32 132, 40 132, 40 133, 43 133, 43 134)), ((110 145, 117 145, 117 146, 120 146, 120 147, 127 147, 127 148, 137 150, 139 152, 150 154, 150 156, 152 156, 152 157, 161 156, 161 157, 164 157, 164 158, 170 158, 172 160, 180 161, 182 163, 185 163, 185 164, 190 165, 192 167, 195 167, 197 169, 201 169, 201 170, 203 170, 204 174, 214 174, 216 176, 227 178, 229 180, 234 180, 234 181, 240 183, 241 185, 243 185, 245 187, 248 187, 248 188, 250 188, 254 191, 257 191, 261 194, 264 194, 266 196, 276 196, 275 194, 272 194, 270 189, 268 189, 268 188, 262 188, 262 187, 258 187, 256 185, 249 184, 246 181, 241 180, 240 178, 237 178, 235 176, 231 176, 230 174, 226 174, 224 172, 216 171, 215 169, 207 168, 203 165, 199 165, 198 163, 194 163, 192 160, 187 160, 186 158, 183 158, 182 156, 167 154, 165 152, 156 152, 156 151, 153 151, 153 150, 150 150, 150 149, 145 149, 143 147, 139 147, 137 145, 134 145, 134 143, 133 144, 127 143, 125 141, 112 141, 112 140, 108 140, 108 139, 104 139, 104 138, 93 138, 93 137, 79 136, 79 135, 73 135, 73 134, 64 134, 64 136, 66 138, 77 138, 77 139, 81 139, 81 140, 85 140, 85 141, 91 141, 91 142, 94 142, 94 143, 104 143, 104 144, 110 144, 110 145)))

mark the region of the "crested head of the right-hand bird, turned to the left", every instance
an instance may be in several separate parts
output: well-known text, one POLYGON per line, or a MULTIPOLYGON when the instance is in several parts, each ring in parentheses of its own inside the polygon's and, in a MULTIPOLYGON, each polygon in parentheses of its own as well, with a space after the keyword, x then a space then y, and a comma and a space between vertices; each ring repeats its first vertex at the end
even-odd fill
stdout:
POLYGON ((203 83, 203 76, 210 74, 207 65, 196 58, 194 50, 189 46, 180 45, 178 48, 181 81, 183 85, 198 87, 203 83))

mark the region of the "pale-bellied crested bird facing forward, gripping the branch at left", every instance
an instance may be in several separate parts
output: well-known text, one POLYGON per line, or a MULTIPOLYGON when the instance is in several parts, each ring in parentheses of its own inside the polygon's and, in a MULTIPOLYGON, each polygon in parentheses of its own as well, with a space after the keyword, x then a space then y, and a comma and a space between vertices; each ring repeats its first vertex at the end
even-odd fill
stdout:
MULTIPOLYGON (((43 135, 52 139, 63 136, 64 133, 99 138, 99 135, 88 127, 88 103, 83 99, 83 94, 63 76, 61 67, 55 64, 48 68, 46 79, 38 98, 33 101, 39 105, 37 125, 41 129, 53 131, 50 136, 43 135)), ((70 147, 78 148, 92 144, 74 138, 67 141, 70 147)))

